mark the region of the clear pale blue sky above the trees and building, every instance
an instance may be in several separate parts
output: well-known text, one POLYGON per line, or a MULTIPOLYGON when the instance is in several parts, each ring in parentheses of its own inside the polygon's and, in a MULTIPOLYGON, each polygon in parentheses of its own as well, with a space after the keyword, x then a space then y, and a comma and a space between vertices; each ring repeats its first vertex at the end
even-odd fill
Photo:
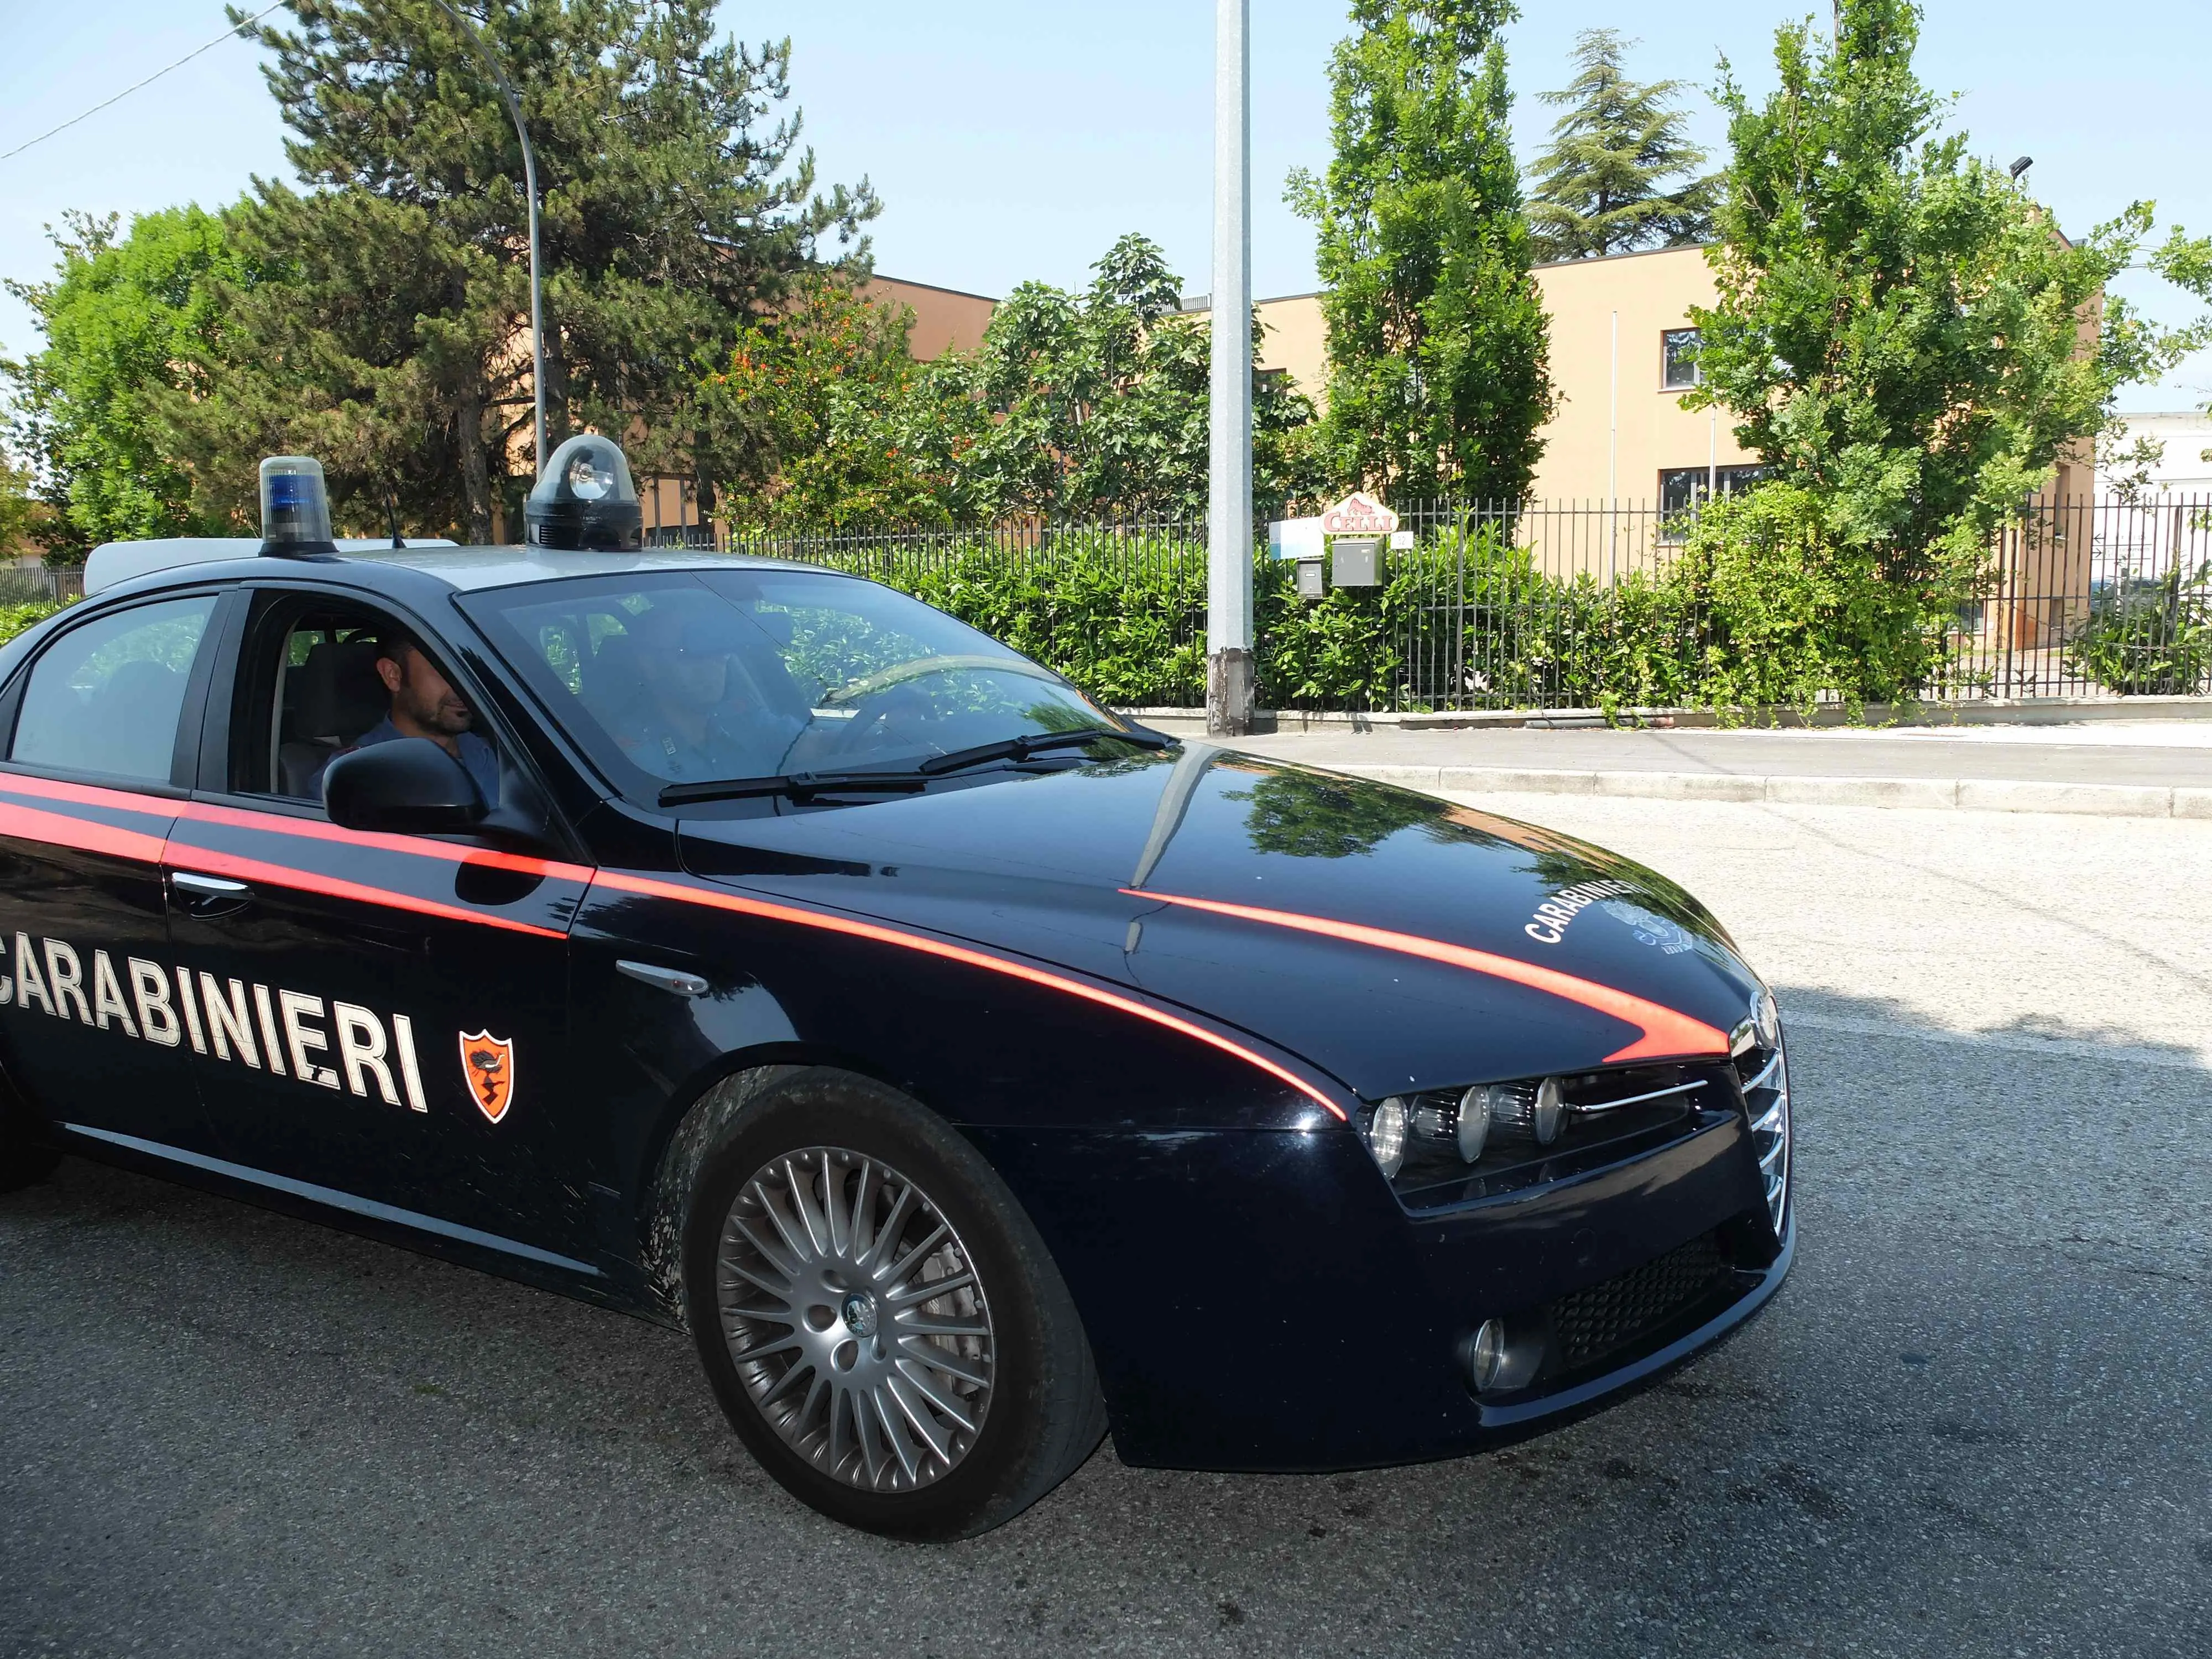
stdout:
MULTIPOLYGON (((1531 153, 1548 126, 1535 93, 1566 80, 1577 29, 1641 38, 1639 77, 1710 86, 1725 53, 1752 86, 1772 80, 1774 24, 1807 0, 1708 0, 1659 9, 1630 0, 1542 4, 1511 33, 1517 133, 1531 153)), ((2212 49, 2205 0, 2137 0, 2126 27, 2059 0, 1929 0, 1920 69, 1960 93, 1958 124, 2000 161, 2033 155, 2035 192, 2068 228, 2130 199, 2212 230, 2212 49)), ((1124 230, 1166 246, 1186 288, 1208 285, 1212 157, 1210 0, 885 0, 761 4, 723 0, 743 38, 790 35, 792 82, 823 179, 867 175, 885 212, 876 265, 896 276, 1004 294, 1026 276, 1073 285, 1124 230)), ((0 0, 0 150, 42 133, 221 33, 219 0, 0 0)), ((1343 0, 1254 0, 1254 292, 1314 288, 1312 230, 1281 204, 1292 166, 1327 161, 1327 60, 1343 0)), ((1690 97, 1697 135, 1721 122, 1690 97)), ((217 206, 252 173, 285 170, 283 128, 257 53, 226 40, 38 148, 0 161, 0 274, 51 268, 42 226, 64 208, 131 212, 217 206)), ((2181 303, 2148 276, 2126 292, 2154 314, 2181 303)), ((0 296, 0 349, 35 345, 29 316, 0 296)), ((2128 396, 2135 409, 2201 405, 2212 361, 2128 396)))

